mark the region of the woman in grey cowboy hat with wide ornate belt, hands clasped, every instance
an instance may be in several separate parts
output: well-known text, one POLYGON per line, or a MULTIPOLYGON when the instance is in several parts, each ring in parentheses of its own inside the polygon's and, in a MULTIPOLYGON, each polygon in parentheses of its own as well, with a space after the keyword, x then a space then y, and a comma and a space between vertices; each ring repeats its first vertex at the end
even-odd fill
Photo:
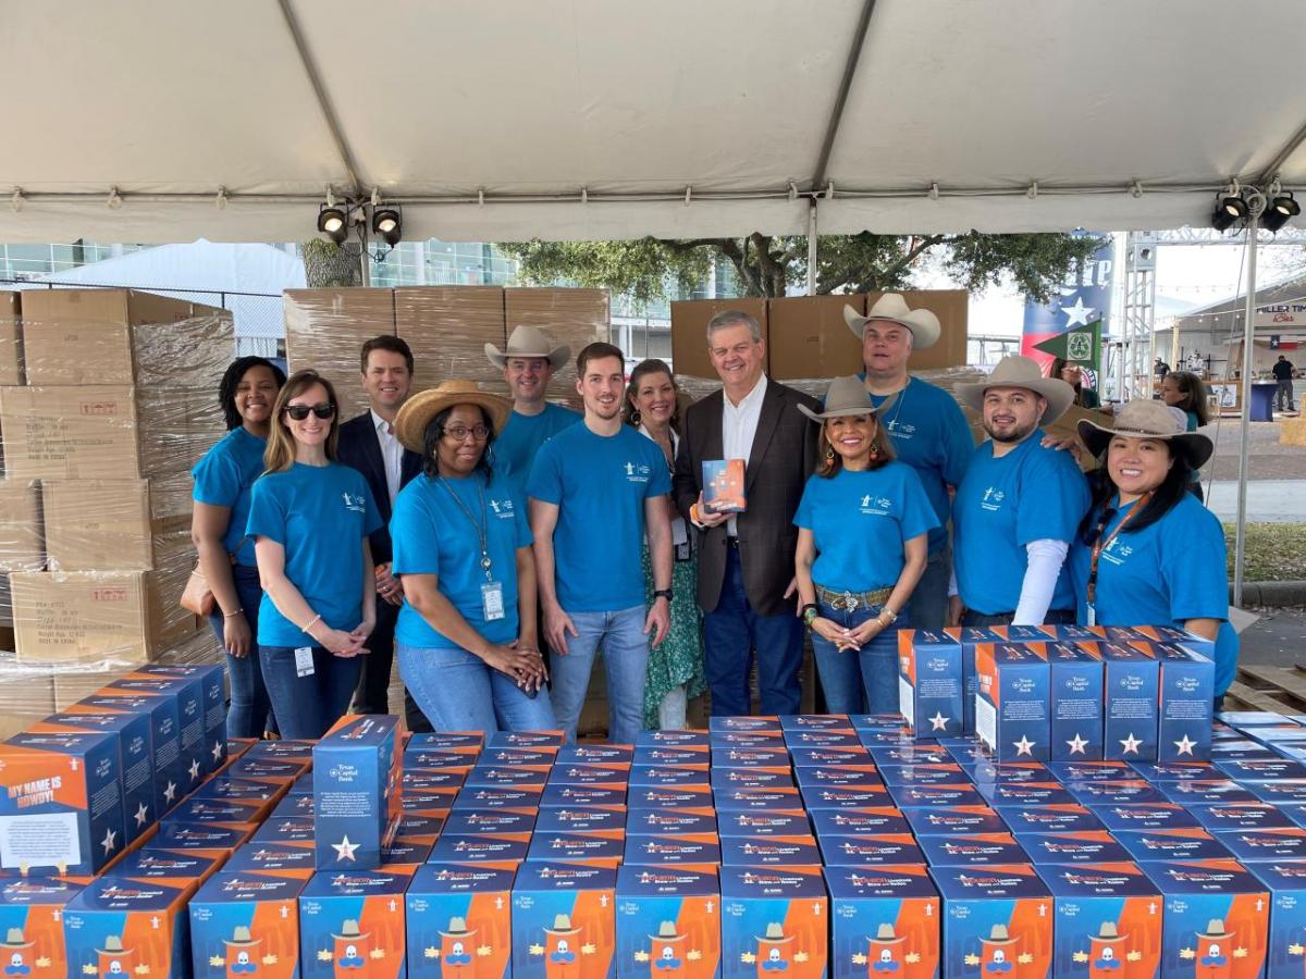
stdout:
POLYGON ((897 630, 939 518, 921 478, 893 458, 858 377, 837 377, 820 414, 820 462, 794 523, 803 621, 832 714, 895 713, 897 630))

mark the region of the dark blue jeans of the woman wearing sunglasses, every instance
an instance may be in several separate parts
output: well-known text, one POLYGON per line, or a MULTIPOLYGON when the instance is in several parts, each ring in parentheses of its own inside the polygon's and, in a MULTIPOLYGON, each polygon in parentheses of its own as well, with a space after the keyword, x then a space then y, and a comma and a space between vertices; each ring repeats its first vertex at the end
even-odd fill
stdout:
POLYGON ((359 657, 337 657, 313 646, 313 672, 299 676, 294 647, 260 646, 259 655, 282 738, 321 738, 349 710, 363 666, 359 657))

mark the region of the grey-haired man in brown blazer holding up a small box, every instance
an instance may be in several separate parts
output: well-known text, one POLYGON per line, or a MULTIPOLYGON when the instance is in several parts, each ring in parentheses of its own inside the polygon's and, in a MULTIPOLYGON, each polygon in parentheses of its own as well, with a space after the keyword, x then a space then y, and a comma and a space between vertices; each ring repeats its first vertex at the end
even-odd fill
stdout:
POLYGON ((814 398, 771 381, 757 321, 739 311, 708 324, 708 355, 725 385, 686 412, 673 480, 675 505, 699 530, 699 606, 712 713, 750 713, 754 650, 763 714, 797 714, 803 627, 797 615, 794 513, 816 465, 814 398), (746 461, 747 509, 703 505, 703 463, 746 461))

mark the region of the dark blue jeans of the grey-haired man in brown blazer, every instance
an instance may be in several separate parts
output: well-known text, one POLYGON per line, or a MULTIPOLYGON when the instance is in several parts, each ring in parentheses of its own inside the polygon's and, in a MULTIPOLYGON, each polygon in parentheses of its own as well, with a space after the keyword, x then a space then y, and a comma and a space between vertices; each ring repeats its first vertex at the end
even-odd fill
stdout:
POLYGON ((803 620, 791 612, 757 615, 743 590, 739 552, 726 548, 726 576, 716 610, 703 614, 703 649, 712 717, 752 713, 748 674, 757 650, 763 714, 797 714, 802 705, 803 620))

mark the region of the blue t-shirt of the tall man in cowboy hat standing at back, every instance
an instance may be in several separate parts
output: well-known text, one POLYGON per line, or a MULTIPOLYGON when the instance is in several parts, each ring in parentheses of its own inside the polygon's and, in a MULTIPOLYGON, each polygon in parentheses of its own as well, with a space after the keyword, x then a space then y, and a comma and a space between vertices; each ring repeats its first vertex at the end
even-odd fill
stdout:
MULTIPOLYGON (((866 372, 858 377, 865 381, 866 372)), ((875 407, 885 401, 887 397, 871 396, 875 407)), ((880 412, 880 422, 893 440, 899 461, 921 476, 921 486, 939 518, 939 525, 930 531, 930 553, 938 553, 948 542, 947 525, 952 516, 948 487, 961 486, 976 449, 970 424, 948 392, 919 377, 908 379, 896 401, 880 412)))

